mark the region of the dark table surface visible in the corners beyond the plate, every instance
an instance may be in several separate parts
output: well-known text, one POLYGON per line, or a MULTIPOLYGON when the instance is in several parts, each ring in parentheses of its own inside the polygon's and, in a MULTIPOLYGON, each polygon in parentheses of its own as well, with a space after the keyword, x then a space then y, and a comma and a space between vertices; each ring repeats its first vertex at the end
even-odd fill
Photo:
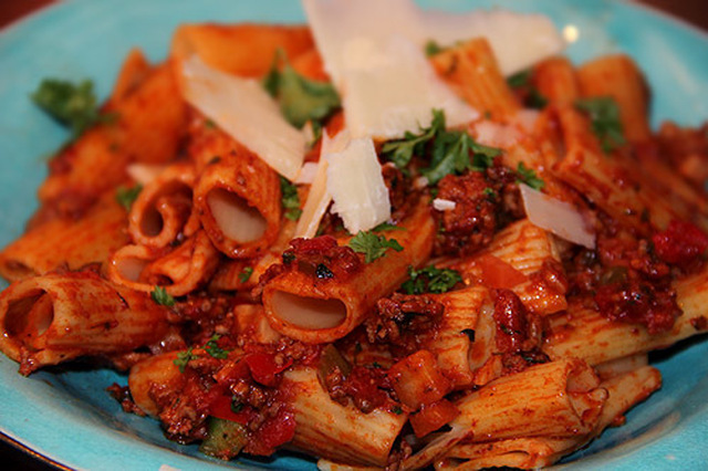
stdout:
MULTIPOLYGON (((0 28, 58 0, 1 0, 0 28)), ((708 31, 706 0, 637 0, 708 31)), ((54 468, 35 457, 0 440, 0 464, 7 470, 48 471, 54 468)))

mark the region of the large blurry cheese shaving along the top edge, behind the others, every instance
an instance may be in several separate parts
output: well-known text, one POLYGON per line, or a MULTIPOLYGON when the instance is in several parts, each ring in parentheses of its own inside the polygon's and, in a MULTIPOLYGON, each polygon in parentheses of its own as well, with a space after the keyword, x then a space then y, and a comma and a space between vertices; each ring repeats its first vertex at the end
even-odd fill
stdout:
POLYGON ((337 87, 352 40, 383 44, 402 36, 423 50, 429 40, 446 46, 483 36, 504 75, 528 69, 565 46, 551 20, 541 14, 424 11, 413 0, 304 0, 303 6, 325 69, 337 87))

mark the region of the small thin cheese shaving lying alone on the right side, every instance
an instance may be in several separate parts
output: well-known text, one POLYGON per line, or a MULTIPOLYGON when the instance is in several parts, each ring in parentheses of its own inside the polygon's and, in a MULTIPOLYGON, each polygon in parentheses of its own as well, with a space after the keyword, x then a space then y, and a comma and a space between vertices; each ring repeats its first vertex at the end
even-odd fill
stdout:
POLYGON ((587 230, 583 216, 565 201, 551 198, 527 185, 519 185, 523 208, 532 224, 570 242, 595 248, 595 236, 587 230))

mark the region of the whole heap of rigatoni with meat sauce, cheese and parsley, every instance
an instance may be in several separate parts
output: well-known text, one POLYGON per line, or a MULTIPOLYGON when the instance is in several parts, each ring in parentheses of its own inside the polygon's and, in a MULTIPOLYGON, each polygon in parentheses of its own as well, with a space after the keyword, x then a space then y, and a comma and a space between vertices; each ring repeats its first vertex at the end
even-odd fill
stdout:
POLYGON ((708 331, 708 124, 652 129, 637 63, 542 15, 303 8, 183 24, 102 104, 42 80, 70 138, 0 350, 125 371, 125 414, 221 460, 538 469, 622 426, 708 331))

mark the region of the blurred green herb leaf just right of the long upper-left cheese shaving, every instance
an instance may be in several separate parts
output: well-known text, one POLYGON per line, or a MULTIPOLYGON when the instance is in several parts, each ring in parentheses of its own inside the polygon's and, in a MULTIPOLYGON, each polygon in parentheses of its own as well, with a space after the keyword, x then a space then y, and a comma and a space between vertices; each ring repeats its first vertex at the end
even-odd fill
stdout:
POLYGON ((340 96, 334 86, 300 75, 290 65, 282 49, 275 52, 273 65, 262 83, 280 104, 285 119, 298 128, 302 128, 308 121, 322 121, 340 107, 340 96))

